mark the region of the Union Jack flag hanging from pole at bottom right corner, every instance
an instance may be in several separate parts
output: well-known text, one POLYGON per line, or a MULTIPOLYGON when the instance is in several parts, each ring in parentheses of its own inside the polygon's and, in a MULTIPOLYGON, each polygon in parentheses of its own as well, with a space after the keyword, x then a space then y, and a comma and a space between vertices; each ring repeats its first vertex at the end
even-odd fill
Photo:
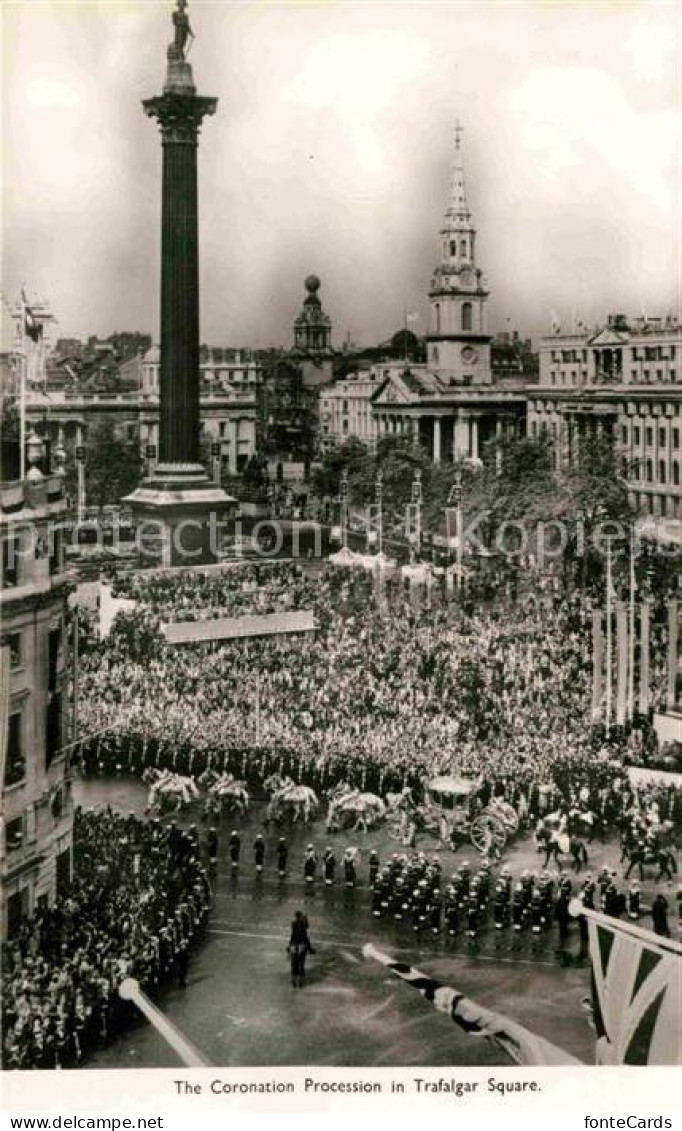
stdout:
POLYGON ((682 1064, 682 953, 588 918, 597 1064, 682 1064))

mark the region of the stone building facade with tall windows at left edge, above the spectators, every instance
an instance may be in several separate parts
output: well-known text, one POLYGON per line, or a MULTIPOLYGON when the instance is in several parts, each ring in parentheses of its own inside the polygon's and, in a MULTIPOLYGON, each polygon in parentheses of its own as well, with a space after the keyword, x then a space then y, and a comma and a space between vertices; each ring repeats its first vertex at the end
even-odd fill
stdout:
POLYGON ((71 878, 72 802, 66 746, 67 597, 63 476, 0 485, 2 627, 2 936, 51 905, 71 878))

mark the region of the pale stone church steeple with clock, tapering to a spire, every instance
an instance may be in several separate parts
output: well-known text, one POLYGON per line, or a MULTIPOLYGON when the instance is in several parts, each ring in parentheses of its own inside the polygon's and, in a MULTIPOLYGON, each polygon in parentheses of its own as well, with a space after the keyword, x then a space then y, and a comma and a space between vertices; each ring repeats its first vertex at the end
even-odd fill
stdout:
POLYGON ((452 188, 440 232, 440 262, 429 291, 431 325, 426 336, 428 369, 446 385, 492 383, 487 295, 483 271, 476 267, 476 230, 466 200, 458 123, 452 188))

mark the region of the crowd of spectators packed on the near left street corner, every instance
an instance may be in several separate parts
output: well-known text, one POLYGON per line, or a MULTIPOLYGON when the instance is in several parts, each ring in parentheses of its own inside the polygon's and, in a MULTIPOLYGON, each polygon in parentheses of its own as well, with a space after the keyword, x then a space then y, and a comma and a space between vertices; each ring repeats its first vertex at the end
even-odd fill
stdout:
POLYGON ((72 883, 2 956, 3 1068, 80 1064, 135 1017, 118 992, 127 977, 150 994, 184 985, 210 898, 191 831, 77 810, 72 883))

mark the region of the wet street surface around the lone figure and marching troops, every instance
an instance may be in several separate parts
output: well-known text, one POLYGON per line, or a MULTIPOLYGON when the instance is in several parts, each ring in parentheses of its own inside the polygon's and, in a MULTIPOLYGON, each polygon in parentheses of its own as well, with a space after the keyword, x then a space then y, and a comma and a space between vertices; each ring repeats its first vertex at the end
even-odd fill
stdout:
MULTIPOLYGON (((146 789, 132 780, 89 779, 76 784, 76 801, 85 808, 111 803, 123 812, 141 813, 146 789)), ((527 935, 515 952, 510 939, 495 950, 492 931, 482 936, 475 955, 466 942, 447 936, 415 936, 409 924, 375 920, 370 910, 366 855, 378 848, 381 860, 399 846, 385 830, 368 835, 326 834, 323 819, 264 829, 262 805, 253 805, 245 820, 221 821, 215 906, 205 943, 193 951, 185 990, 164 992, 158 1004, 183 1033, 217 1065, 500 1065, 510 1063, 487 1042, 466 1036, 447 1017, 437 1013, 415 991, 378 964, 362 957, 372 942, 424 973, 455 986, 489 1009, 519 1021, 578 1056, 594 1061, 593 1034, 581 999, 588 993, 587 967, 562 967, 554 955, 555 932, 536 951, 527 935), (227 861, 232 828, 242 837, 236 878, 227 861), (262 831, 267 841, 262 878, 253 867, 252 843, 262 831), (279 880, 275 844, 286 836, 288 875, 279 880), (318 878, 313 891, 304 890, 302 861, 312 841, 318 854, 327 844, 337 857, 337 881, 325 888, 318 878), (349 844, 362 849, 359 887, 345 888, 340 857, 349 844), (286 943, 293 913, 302 908, 310 920, 317 953, 309 958, 303 990, 291 986, 286 943)), ((183 815, 196 820, 198 811, 183 815)), ((424 838, 425 851, 434 845, 424 838)), ((618 847, 594 845, 590 869, 618 860, 618 847)), ((474 849, 440 853, 444 874, 455 861, 478 860, 474 849)), ((510 845, 504 862, 515 874, 539 869, 541 857, 526 838, 510 845)), ((573 927, 571 948, 577 950, 573 927)), ((146 1022, 95 1052, 88 1068, 172 1068, 174 1054, 146 1022)))

